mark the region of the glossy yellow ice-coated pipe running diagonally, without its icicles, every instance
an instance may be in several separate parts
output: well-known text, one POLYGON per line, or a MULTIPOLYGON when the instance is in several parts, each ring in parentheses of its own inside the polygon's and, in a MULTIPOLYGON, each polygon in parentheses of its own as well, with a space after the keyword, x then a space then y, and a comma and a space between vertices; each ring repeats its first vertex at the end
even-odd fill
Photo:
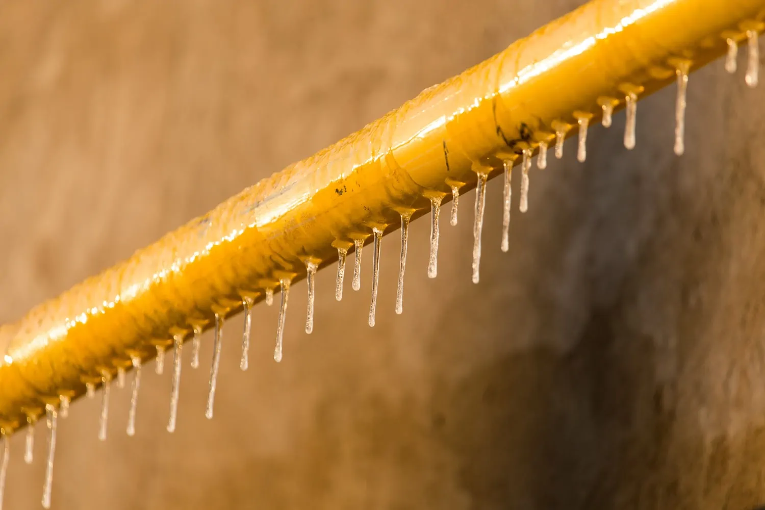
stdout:
MULTIPOLYGON (((0 427, 129 355, 236 313, 306 261, 389 232, 400 213, 420 216, 429 197, 549 141, 576 117, 601 115, 702 66, 725 38, 761 31, 763 0, 594 0, 500 54, 426 89, 360 132, 243 190, 129 260, 0 327, 0 427), (213 311, 214 310, 214 311, 213 311)), ((668 119, 669 121, 670 119, 668 119)))

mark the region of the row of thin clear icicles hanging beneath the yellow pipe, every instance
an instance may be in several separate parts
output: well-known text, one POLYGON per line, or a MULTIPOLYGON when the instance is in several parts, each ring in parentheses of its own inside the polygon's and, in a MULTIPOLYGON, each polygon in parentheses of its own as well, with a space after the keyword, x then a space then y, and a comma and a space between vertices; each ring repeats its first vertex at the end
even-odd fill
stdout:
MULTIPOLYGON (((748 41, 748 58, 747 58, 747 72, 746 83, 750 87, 757 85, 758 81, 758 66, 759 66, 759 49, 757 41, 756 31, 747 31, 748 41)), ((737 43, 733 39, 728 39, 728 54, 725 58, 725 70, 728 73, 735 73, 737 70, 737 43)), ((675 104, 675 154, 681 155, 685 151, 685 145, 683 143, 685 133, 685 91, 688 87, 688 65, 683 65, 676 70, 677 75, 677 99, 675 104)), ((635 147, 635 119, 637 108, 637 96, 634 93, 628 93, 625 96, 627 121, 624 130, 624 146, 627 149, 635 147)), ((608 128, 611 125, 611 114, 614 111, 614 102, 605 102, 602 105, 603 108, 603 120, 602 124, 608 128)), ((589 119, 592 115, 579 115, 578 116, 578 149, 577 159, 584 162, 587 158, 587 130, 589 119)), ((555 133, 555 158, 563 157, 563 142, 565 140, 566 130, 558 129, 555 133)), ((547 149, 546 142, 539 142, 539 154, 536 159, 536 164, 539 169, 544 169, 547 166, 547 149)), ((519 200, 519 210, 525 213, 529 208, 529 170, 532 166, 532 149, 526 148, 522 151, 522 180, 519 200)), ((503 222, 502 222, 502 242, 501 249, 503 252, 507 252, 509 249, 509 223, 510 223, 510 201, 512 190, 510 188, 510 177, 513 169, 512 160, 504 161, 504 201, 503 201, 503 222)), ((473 228, 474 246, 473 246, 473 281, 478 283, 479 281, 479 267, 480 267, 480 250, 481 250, 481 230, 483 229, 483 208, 486 202, 486 184, 487 174, 478 174, 477 189, 476 189, 476 203, 475 203, 475 223, 473 228)), ((459 204, 459 187, 452 187, 452 205, 451 205, 451 225, 457 225, 457 206, 459 204)), ((430 254, 428 257, 428 278, 435 278, 437 274, 437 261, 438 261, 438 213, 441 207, 442 197, 431 199, 431 236, 430 236, 430 254)), ((399 262, 399 281, 396 288, 396 313, 402 313, 403 307, 403 291, 404 291, 404 270, 406 265, 406 247, 409 235, 409 220, 411 214, 402 214, 401 216, 401 258, 399 262)), ((379 281, 379 261, 380 261, 380 245, 382 242, 382 229, 373 229, 373 278, 372 278, 372 304, 369 306, 369 326, 375 325, 375 313, 377 305, 377 287, 379 281)), ((354 241, 354 265, 353 265, 353 281, 351 287, 354 291, 358 291, 361 287, 361 254, 363 249, 363 240, 354 241)), ((348 254, 348 249, 340 248, 337 250, 338 262, 337 262, 337 284, 335 287, 335 297, 339 301, 343 297, 343 278, 345 275, 345 262, 348 254)), ((308 273, 308 314, 305 321, 305 332, 311 333, 314 329, 314 277, 317 271, 318 265, 314 261, 306 263, 306 269, 308 273)), ((279 310, 278 326, 276 330, 276 348, 274 352, 274 359, 277 362, 282 361, 282 338, 284 336, 285 326, 285 314, 287 312, 287 300, 289 295, 290 280, 282 279, 279 281, 282 303, 279 310)), ((265 303, 269 306, 273 304, 274 293, 273 289, 269 289, 265 292, 265 303)), ((244 332, 243 332, 243 344, 242 344, 242 359, 239 364, 240 369, 246 370, 248 366, 248 352, 249 352, 249 336, 251 326, 251 309, 252 300, 245 298, 243 300, 244 309, 244 332)), ((193 368, 199 367, 199 349, 200 349, 200 333, 201 330, 194 330, 194 338, 192 340, 192 357, 191 366, 193 368)), ((221 341, 223 339, 223 316, 216 314, 215 327, 214 327, 214 340, 213 340, 213 363, 210 369, 210 384, 208 388, 207 396, 207 408, 205 410, 205 416, 207 418, 213 417, 213 404, 215 401, 215 388, 218 377, 218 371, 220 368, 220 349, 221 341)), ((171 387, 171 404, 170 404, 170 418, 168 420, 168 432, 175 430, 177 419, 177 406, 178 406, 178 391, 181 383, 181 354, 183 352, 183 336, 176 336, 174 338, 174 360, 173 360, 173 380, 171 387)), ((138 388, 141 385, 141 358, 140 356, 132 356, 132 367, 135 369, 135 376, 132 381, 132 395, 130 398, 130 411, 128 416, 127 434, 133 436, 135 434, 135 411, 138 404, 138 388)), ((155 365, 155 372, 162 374, 164 372, 164 346, 157 346, 157 362, 155 365)), ((106 424, 109 417, 109 393, 111 389, 112 374, 110 372, 104 372, 102 377, 103 383, 103 396, 101 400, 101 412, 99 418, 99 440, 106 440, 106 424)), ((125 387, 125 368, 120 367, 117 369, 116 385, 118 388, 125 387)), ((88 398, 94 398, 96 396, 96 385, 93 382, 86 384, 86 395, 88 398)), ((50 508, 50 493, 53 487, 53 464, 54 454, 56 451, 56 427, 58 415, 67 417, 69 411, 70 400, 67 397, 61 397, 60 408, 56 408, 54 404, 46 404, 46 421, 48 427, 48 455, 47 464, 45 469, 45 480, 43 486, 43 498, 42 505, 44 508, 50 508)), ((28 427, 26 436, 26 451, 24 452, 24 461, 26 463, 32 462, 32 448, 34 445, 34 423, 36 417, 28 417, 28 427)), ((9 460, 9 441, 8 436, 3 434, 2 436, 2 464, 0 464, 0 510, 2 510, 2 496, 5 492, 5 476, 8 472, 8 460, 9 460)))

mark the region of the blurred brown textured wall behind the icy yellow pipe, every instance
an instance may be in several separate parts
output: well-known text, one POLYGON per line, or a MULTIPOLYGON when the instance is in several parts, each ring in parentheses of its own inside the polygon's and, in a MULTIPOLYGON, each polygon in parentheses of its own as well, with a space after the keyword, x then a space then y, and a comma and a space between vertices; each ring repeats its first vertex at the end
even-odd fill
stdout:
MULTIPOLYGON (((0 322, 578 3, 3 2, 0 322)), ((508 254, 491 183, 479 285, 469 193, 459 226, 442 216, 435 281, 427 221, 412 224, 402 316, 393 235, 375 328, 371 250, 340 303, 318 275, 311 336, 294 287, 281 365, 275 307, 255 310, 248 372, 227 323, 213 421, 210 336, 203 366, 184 363, 173 435, 167 370, 145 372, 135 437, 128 390, 106 443, 99 401, 78 401, 54 508, 762 504, 765 88, 721 62, 692 75, 682 158, 673 102, 640 102, 634 151, 621 113, 592 129, 586 164, 569 142, 533 171, 508 254)), ((22 450, 15 437, 7 508, 39 504, 41 425, 33 466, 22 450)))

